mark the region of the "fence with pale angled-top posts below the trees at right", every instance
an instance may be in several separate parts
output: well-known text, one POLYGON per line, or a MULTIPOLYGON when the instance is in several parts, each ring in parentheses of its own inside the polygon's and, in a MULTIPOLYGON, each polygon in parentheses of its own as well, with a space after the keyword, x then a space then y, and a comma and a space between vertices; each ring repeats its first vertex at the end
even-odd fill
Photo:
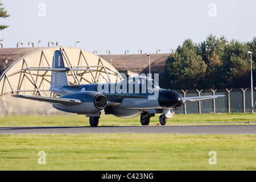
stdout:
MULTIPOLYGON (((225 95, 214 100, 184 104, 175 114, 250 113, 251 89, 176 90, 182 97, 225 95)), ((253 92, 254 100, 256 92, 253 92)))

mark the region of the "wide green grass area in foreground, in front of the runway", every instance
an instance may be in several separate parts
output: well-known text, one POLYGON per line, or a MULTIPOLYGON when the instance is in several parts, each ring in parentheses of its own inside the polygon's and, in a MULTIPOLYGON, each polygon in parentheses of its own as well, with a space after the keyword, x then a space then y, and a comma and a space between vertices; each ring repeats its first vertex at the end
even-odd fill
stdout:
POLYGON ((256 170, 256 135, 6 134, 0 170, 256 170), (39 165, 39 151, 46 165, 39 165), (210 151, 217 165, 208 163, 210 151))

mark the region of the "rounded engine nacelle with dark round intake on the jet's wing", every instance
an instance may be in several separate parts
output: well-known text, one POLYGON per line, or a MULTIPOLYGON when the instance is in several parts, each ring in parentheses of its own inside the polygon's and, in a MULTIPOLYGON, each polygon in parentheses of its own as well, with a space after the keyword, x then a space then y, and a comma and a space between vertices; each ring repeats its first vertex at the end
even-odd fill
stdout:
POLYGON ((68 113, 94 114, 106 107, 107 99, 99 92, 86 91, 68 94, 60 98, 73 98, 81 101, 79 105, 52 104, 55 109, 68 113))

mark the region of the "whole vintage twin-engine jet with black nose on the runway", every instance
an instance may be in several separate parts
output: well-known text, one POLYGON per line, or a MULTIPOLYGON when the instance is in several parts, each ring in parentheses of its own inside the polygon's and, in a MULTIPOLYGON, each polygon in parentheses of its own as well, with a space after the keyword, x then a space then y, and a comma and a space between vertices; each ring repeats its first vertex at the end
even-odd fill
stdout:
POLYGON ((184 103, 208 100, 225 96, 203 96, 183 98, 174 90, 161 89, 150 77, 136 76, 119 83, 69 85, 68 71, 92 71, 64 66, 63 55, 55 51, 52 68, 26 68, 23 71, 51 71, 51 92, 60 96, 24 96, 25 98, 51 103, 55 109, 68 113, 84 114, 89 117, 90 126, 97 127, 101 111, 121 118, 133 118, 141 114, 141 124, 148 125, 150 118, 161 114, 159 122, 166 125, 167 118, 184 103))

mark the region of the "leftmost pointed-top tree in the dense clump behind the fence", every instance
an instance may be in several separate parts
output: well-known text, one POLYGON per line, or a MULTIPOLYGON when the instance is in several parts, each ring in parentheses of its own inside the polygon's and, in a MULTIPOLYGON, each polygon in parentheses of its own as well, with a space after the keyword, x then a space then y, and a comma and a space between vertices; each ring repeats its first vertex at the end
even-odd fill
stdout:
POLYGON ((198 55, 198 46, 187 39, 168 57, 165 69, 166 88, 193 89, 203 86, 207 65, 198 55))

